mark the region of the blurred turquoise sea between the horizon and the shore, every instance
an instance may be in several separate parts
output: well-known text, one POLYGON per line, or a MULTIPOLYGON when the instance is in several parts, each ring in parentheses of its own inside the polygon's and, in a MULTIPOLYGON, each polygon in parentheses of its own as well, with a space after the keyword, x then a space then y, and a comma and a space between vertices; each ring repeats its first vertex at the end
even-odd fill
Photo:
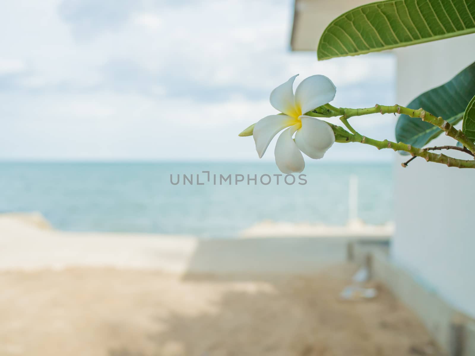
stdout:
POLYGON ((69 231, 232 237, 263 220, 345 224, 353 174, 359 177, 359 216, 373 224, 392 220, 390 164, 318 162, 305 168, 305 185, 298 175, 293 185, 283 177, 276 185, 273 174, 279 173, 266 162, 0 163, 0 212, 38 211, 69 231), (210 182, 202 171, 210 171, 210 182), (180 184, 171 184, 171 174, 174 182, 180 175, 180 184), (183 174, 193 175, 192 185, 183 185, 183 174), (205 184, 196 184, 196 174, 205 184), (218 184, 219 174, 232 174, 232 185, 213 185, 213 174, 218 184), (236 185, 235 174, 244 182, 236 185), (248 174, 257 175, 257 185, 247 185, 248 174), (263 174, 270 184, 261 184, 263 174))

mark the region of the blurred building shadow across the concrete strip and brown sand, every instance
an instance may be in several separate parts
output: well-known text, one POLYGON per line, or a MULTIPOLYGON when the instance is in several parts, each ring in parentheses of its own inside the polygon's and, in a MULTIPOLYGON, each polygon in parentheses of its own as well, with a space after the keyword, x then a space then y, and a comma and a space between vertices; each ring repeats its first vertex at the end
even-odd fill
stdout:
POLYGON ((376 301, 338 299, 357 268, 344 262, 344 241, 279 240, 200 241, 182 280, 226 289, 197 312, 151 315, 158 331, 146 349, 109 356, 400 356, 430 344, 384 289, 376 301))

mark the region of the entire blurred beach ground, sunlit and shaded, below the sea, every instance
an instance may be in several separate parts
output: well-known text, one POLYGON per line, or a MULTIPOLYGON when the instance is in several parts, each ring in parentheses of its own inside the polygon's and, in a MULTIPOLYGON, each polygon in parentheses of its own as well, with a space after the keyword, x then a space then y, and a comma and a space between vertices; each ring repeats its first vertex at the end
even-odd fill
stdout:
POLYGON ((2 215, 0 355, 441 355, 383 286, 341 300, 358 269, 345 261, 340 238, 66 233, 2 215))

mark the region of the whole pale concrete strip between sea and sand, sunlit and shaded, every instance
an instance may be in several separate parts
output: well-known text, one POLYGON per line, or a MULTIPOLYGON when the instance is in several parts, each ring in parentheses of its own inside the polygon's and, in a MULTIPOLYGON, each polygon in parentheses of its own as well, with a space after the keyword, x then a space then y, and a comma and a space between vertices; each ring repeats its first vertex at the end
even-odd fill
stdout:
POLYGON ((0 270, 107 266, 190 274, 313 273, 348 259, 343 238, 73 233, 27 220, 0 215, 0 270))

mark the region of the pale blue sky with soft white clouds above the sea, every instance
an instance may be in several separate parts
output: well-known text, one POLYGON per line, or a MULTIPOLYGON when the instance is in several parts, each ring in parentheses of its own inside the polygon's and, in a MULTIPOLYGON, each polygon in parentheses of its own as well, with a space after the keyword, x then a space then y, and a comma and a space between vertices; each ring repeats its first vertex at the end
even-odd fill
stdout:
MULTIPOLYGON (((335 106, 395 102, 390 54, 290 52, 292 17, 291 0, 6 1, 0 159, 257 160, 237 133, 276 113, 271 90, 297 73, 330 77, 335 106)), ((386 116, 354 126, 394 135, 386 116)), ((325 159, 392 154, 335 144, 325 159)))

